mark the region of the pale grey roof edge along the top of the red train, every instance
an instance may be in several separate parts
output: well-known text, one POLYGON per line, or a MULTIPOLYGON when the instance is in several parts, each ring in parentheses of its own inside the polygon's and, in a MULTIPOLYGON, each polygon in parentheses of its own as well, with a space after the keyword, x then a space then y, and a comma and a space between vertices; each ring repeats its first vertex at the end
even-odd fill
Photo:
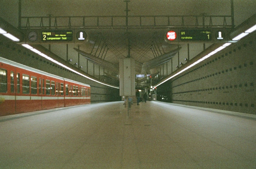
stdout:
POLYGON ((84 86, 90 87, 90 85, 88 85, 88 84, 84 84, 84 83, 81 83, 81 82, 78 82, 78 81, 74 81, 74 80, 71 80, 71 79, 67 79, 67 78, 63 78, 63 77, 60 77, 60 76, 56 76, 56 75, 53 75, 53 74, 50 74, 50 73, 47 73, 47 72, 44 72, 44 71, 32 68, 32 67, 28 67, 28 66, 22 65, 22 64, 17 63, 17 62, 13 62, 13 61, 5 59, 3 57, 0 57, 0 62, 8 64, 8 65, 11 65, 11 66, 16 66, 16 67, 19 67, 19 68, 22 68, 22 69, 25 69, 25 70, 28 70, 28 71, 32 71, 32 72, 35 72, 35 73, 39 73, 39 74, 42 74, 42 75, 46 75, 46 76, 49 76, 49 77, 52 77, 52 78, 57 78, 57 79, 60 79, 60 80, 65 80, 65 81, 69 81, 69 82, 72 82, 72 83, 77 83, 77 84, 80 84, 80 85, 84 85, 84 86))

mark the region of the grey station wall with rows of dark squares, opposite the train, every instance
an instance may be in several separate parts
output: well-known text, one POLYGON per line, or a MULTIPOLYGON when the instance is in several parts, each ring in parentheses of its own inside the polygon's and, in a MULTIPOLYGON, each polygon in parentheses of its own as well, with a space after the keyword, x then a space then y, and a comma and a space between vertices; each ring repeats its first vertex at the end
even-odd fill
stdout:
POLYGON ((256 114, 256 35, 171 80, 172 103, 256 114))

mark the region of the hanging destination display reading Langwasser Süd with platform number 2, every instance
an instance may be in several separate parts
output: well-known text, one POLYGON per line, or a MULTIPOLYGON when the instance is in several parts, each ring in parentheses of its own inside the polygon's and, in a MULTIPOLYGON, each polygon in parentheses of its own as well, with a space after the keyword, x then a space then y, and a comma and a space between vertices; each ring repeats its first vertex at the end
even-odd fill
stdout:
POLYGON ((47 31, 42 31, 41 41, 43 41, 43 42, 73 41, 73 31, 72 30, 47 30, 47 31))

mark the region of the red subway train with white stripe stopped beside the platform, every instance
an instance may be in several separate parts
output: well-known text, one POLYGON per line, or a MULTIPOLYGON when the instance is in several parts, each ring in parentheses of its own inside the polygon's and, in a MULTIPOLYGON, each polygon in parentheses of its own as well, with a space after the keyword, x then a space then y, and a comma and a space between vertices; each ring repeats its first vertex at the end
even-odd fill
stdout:
POLYGON ((0 116, 89 103, 90 85, 0 57, 0 116))

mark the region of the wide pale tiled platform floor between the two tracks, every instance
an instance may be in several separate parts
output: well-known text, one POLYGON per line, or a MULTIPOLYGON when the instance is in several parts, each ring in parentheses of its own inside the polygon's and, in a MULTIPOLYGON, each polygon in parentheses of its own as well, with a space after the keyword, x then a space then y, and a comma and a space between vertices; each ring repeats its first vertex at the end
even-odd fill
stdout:
POLYGON ((255 115, 123 103, 1 117, 0 168, 256 168, 255 115))

